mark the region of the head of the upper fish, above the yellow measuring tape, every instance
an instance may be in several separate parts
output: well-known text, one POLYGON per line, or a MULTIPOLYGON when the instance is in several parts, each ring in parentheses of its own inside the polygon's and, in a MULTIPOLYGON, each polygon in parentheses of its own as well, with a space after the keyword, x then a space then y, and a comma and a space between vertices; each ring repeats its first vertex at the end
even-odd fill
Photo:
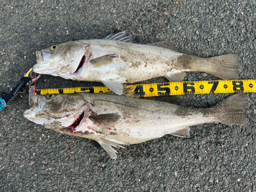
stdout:
POLYGON ((88 55, 89 45, 81 41, 70 41, 36 51, 33 71, 39 74, 66 76, 81 72, 88 55))

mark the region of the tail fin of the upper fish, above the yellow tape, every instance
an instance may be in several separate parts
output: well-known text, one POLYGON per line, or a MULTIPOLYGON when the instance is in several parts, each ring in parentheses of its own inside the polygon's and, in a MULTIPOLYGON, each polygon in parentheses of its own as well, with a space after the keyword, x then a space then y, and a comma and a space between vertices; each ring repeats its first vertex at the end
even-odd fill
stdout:
POLYGON ((239 75, 236 70, 239 63, 238 55, 226 54, 208 58, 207 61, 211 63, 211 67, 205 71, 206 73, 224 80, 238 79, 239 75))

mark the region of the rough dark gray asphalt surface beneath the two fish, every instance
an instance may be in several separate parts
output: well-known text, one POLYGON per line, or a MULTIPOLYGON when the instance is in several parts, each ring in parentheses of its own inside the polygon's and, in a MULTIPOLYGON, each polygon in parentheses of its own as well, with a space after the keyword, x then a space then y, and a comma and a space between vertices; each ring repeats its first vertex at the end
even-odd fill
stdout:
MULTIPOLYGON (((169 40, 183 53, 239 54, 240 79, 255 79, 255 1, 2 1, 0 91, 36 63, 35 51, 129 30, 146 44, 169 40)), ((132 56, 132 55, 131 55, 132 56)), ((188 73, 185 80, 217 79, 188 73)), ((147 82, 162 82, 165 78, 147 82)), ((43 75, 39 88, 91 86, 43 75)), ((192 106, 227 94, 183 96, 192 106)), ((61 135, 23 118, 28 90, 0 112, 0 191, 250 191, 255 186, 255 93, 248 126, 203 124, 191 138, 164 136, 118 149, 112 160, 87 139, 61 135)))

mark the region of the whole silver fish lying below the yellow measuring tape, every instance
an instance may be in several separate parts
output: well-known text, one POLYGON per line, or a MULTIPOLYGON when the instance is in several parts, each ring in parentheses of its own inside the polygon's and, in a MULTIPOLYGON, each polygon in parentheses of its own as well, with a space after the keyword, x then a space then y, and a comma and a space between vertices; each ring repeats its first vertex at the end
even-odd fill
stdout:
POLYGON ((47 129, 91 139, 112 159, 117 158, 113 147, 167 134, 188 138, 193 125, 248 123, 243 113, 248 105, 245 93, 231 95, 209 108, 192 108, 172 100, 93 93, 34 95, 23 116, 47 129))

